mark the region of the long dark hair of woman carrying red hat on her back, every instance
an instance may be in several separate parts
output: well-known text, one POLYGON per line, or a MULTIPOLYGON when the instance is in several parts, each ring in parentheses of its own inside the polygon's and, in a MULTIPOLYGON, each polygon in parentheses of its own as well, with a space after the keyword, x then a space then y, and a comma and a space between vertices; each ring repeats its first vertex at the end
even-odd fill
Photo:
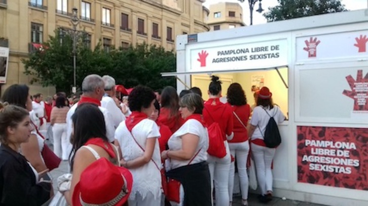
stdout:
POLYGON ((105 119, 98 106, 84 103, 77 107, 76 112, 71 117, 73 122, 73 135, 71 143, 73 145, 69 156, 70 168, 73 170, 76 152, 89 139, 99 137, 108 142, 106 136, 105 119), (71 157, 71 158, 70 158, 71 157))

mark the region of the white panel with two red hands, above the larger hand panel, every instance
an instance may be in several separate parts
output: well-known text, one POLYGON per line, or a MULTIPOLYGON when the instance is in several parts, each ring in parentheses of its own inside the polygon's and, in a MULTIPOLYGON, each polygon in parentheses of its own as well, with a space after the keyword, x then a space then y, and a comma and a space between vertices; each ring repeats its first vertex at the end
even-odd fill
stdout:
POLYGON ((368 30, 297 38, 297 61, 368 56, 368 30))

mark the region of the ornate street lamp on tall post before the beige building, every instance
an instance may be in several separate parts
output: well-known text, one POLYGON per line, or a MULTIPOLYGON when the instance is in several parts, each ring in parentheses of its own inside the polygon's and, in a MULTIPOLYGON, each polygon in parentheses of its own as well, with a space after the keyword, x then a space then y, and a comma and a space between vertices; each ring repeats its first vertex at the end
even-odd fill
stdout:
POLYGON ((77 39, 79 39, 79 37, 81 37, 82 35, 85 34, 85 32, 80 32, 77 31, 77 26, 79 24, 79 18, 78 18, 78 9, 77 8, 73 8, 72 9, 72 14, 70 17, 70 22, 73 26, 73 29, 63 29, 60 28, 60 36, 62 37, 64 35, 64 33, 67 33, 71 36, 72 40, 73 40, 73 88, 72 88, 72 93, 76 93, 77 92, 77 77, 76 77, 76 67, 77 67, 77 59, 76 59, 76 55, 77 55, 77 39))

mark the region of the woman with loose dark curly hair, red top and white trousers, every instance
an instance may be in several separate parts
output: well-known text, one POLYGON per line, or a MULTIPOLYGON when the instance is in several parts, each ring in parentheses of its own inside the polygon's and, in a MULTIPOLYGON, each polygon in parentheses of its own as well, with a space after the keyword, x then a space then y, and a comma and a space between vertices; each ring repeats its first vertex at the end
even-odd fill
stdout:
MULTIPOLYGON (((233 109, 234 121, 234 137, 229 140, 229 148, 231 155, 236 158, 238 174, 240 179, 240 189, 242 196, 242 205, 248 205, 248 175, 246 170, 247 158, 249 153, 248 124, 249 115, 251 112, 250 106, 247 104, 247 99, 243 88, 239 83, 232 83, 228 88, 228 104, 233 109)), ((229 173, 229 197, 230 205, 233 201, 235 162, 231 163, 229 173)))

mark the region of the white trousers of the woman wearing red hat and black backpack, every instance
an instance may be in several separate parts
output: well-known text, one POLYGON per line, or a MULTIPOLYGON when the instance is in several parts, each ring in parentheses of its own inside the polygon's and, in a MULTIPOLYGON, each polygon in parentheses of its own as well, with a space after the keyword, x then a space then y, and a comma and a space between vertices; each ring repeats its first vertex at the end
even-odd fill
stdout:
POLYGON ((262 194, 267 191, 272 191, 272 170, 271 164, 275 156, 276 148, 269 148, 251 144, 252 154, 254 158, 255 169, 257 173, 258 185, 261 188, 262 194))

